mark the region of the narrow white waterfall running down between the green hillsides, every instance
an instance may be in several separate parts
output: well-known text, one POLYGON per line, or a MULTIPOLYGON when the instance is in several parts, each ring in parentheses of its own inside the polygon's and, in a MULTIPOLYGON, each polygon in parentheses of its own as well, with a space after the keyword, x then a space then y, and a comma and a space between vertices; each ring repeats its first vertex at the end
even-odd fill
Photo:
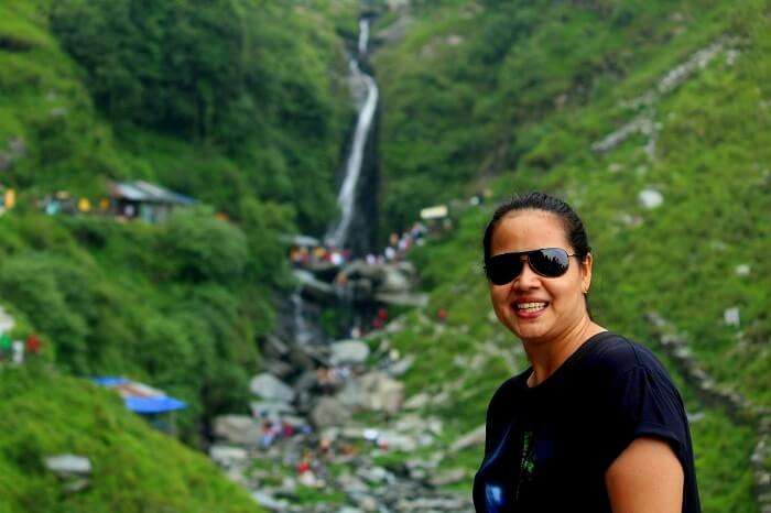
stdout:
MULTIPOLYGON (((359 20, 359 58, 367 56, 367 45, 369 43, 369 20, 359 20)), ((367 91, 363 103, 359 107, 359 114, 356 121, 356 131, 354 132, 354 142, 350 145, 350 153, 346 161, 346 175, 343 181, 343 186, 337 196, 337 204, 340 207, 340 219, 338 223, 332 228, 327 236, 326 242, 329 245, 341 248, 348 239, 348 230, 350 222, 354 219, 356 207, 356 185, 361 173, 361 163, 363 160, 365 145, 367 135, 369 135, 372 120, 374 118, 376 108, 378 106, 378 86, 374 79, 363 73, 359 68, 359 62, 351 58, 350 63, 351 77, 361 83, 367 91)))

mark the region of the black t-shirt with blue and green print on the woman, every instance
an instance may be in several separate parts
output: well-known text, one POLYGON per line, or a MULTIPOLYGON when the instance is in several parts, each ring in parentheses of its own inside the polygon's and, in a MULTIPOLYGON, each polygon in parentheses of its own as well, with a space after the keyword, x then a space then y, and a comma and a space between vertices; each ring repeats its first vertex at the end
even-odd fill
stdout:
POLYGON ((533 388, 531 372, 488 406, 477 512, 610 512, 605 472, 640 436, 670 444, 685 474, 683 512, 701 511, 683 401, 651 351, 605 331, 533 388))

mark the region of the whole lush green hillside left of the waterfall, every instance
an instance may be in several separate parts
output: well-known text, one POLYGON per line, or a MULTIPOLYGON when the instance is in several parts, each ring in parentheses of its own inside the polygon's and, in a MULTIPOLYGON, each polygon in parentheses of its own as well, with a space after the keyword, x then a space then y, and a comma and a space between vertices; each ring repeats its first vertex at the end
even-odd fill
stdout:
POLYGON ((194 447, 211 416, 247 411, 259 338, 290 283, 281 236, 319 233, 335 214, 356 14, 351 0, 2 2, 1 185, 18 201, 0 218, 0 293, 14 335, 41 335, 46 365, 0 381, 3 397, 18 396, 3 399, 3 432, 18 436, 2 440, 1 487, 51 450, 99 454, 115 478, 57 509, 58 488, 32 492, 53 479, 35 470, 3 493, 8 511, 254 507, 226 504, 231 488, 213 468, 57 373, 127 375, 184 400, 181 438, 194 447), (156 226, 37 208, 56 190, 94 201, 108 179, 156 182, 199 206, 156 226), (115 436, 90 419, 104 408, 115 436), (135 456, 108 458, 144 438, 135 456), (150 469, 159 460, 175 468, 164 479, 150 469), (178 499, 161 500, 164 487, 178 499))

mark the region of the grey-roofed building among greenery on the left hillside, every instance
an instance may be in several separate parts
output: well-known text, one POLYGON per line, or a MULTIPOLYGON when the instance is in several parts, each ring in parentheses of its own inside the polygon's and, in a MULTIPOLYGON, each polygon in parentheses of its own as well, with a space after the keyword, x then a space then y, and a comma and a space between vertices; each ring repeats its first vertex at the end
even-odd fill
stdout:
POLYGON ((109 190, 119 217, 148 222, 163 221, 173 209, 196 203, 188 196, 143 181, 113 182, 109 184, 109 190))

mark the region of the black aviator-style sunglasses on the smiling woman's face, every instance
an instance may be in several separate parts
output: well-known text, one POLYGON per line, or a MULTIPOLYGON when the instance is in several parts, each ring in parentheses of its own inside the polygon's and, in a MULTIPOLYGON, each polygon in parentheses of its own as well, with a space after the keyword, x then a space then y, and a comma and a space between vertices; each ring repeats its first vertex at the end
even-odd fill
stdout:
POLYGON ((526 260, 528 265, 535 274, 544 277, 557 277, 567 272, 571 256, 577 255, 575 253, 568 254, 562 248, 501 253, 488 259, 485 263, 485 273, 495 285, 506 285, 520 275, 526 260), (526 259, 522 256, 526 256, 526 259))

